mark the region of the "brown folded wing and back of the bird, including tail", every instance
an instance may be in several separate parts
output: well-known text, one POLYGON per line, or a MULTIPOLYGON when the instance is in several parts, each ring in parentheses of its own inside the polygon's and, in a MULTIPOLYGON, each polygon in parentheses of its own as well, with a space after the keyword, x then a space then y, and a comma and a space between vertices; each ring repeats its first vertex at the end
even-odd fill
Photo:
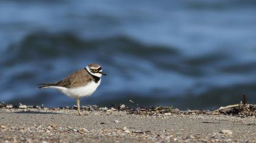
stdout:
MULTIPOLYGON (((66 88, 72 88, 72 87, 80 87, 86 85, 88 82, 92 81, 93 78, 88 74, 88 72, 83 68, 80 69, 68 77, 54 82, 52 84, 41 84, 44 87, 47 86, 58 86, 58 87, 66 87, 66 88)), ((40 88, 40 87, 39 87, 40 88)))

